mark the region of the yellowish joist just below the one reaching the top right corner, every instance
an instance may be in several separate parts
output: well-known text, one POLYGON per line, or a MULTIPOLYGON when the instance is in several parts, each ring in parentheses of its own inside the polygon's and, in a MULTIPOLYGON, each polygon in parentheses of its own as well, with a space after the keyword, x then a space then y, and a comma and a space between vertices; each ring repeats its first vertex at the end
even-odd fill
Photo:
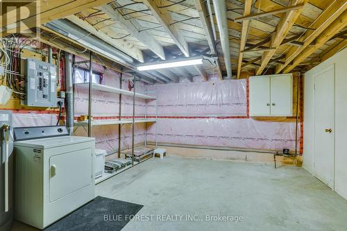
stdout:
POLYGON ((328 42, 332 36, 334 36, 337 32, 344 29, 347 26, 347 10, 342 13, 328 28, 325 29, 318 37, 316 37, 316 43, 312 46, 307 46, 299 55, 296 56, 293 60, 292 65, 287 65, 285 69, 283 69, 283 73, 289 73, 292 69, 294 69, 297 65, 299 65, 305 58, 311 55, 316 49, 321 47, 325 42, 328 42))

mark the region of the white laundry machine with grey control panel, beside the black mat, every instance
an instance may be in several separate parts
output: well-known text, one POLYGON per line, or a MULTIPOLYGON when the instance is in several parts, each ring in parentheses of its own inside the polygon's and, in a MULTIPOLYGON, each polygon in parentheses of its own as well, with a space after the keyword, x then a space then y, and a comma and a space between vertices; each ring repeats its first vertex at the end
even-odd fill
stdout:
POLYGON ((14 133, 15 219, 43 229, 94 199, 94 138, 65 126, 14 133))

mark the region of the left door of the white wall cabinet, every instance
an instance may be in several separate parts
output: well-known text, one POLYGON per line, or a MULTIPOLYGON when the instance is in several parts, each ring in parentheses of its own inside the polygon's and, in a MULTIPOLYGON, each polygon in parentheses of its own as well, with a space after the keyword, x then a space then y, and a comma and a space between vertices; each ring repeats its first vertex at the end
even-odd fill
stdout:
POLYGON ((253 117, 270 114, 270 76, 249 78, 249 115, 253 117))

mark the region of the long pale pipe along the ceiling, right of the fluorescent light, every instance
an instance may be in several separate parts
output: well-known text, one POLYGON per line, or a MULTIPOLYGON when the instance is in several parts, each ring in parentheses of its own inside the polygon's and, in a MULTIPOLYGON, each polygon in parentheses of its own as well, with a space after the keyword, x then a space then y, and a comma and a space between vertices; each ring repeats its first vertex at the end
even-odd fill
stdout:
POLYGON ((226 73, 228 74, 228 78, 232 78, 229 31, 228 22, 226 20, 226 1, 214 0, 213 7, 217 18, 217 26, 219 30, 219 37, 221 38, 221 48, 223 49, 224 62, 226 63, 226 73))

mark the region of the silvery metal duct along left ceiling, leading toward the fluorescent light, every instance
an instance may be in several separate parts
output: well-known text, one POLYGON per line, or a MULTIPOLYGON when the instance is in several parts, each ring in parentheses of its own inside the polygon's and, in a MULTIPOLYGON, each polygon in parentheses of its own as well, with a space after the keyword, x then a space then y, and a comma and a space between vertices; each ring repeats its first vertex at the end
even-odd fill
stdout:
POLYGON ((134 62, 133 58, 129 55, 126 55, 110 44, 103 42, 98 37, 90 35, 90 33, 87 33, 87 31, 84 31, 82 28, 71 24, 71 22, 68 22, 66 19, 58 19, 44 25, 53 31, 71 38, 72 40, 78 41, 89 49, 108 55, 108 58, 115 60, 116 62, 125 65, 134 62))

